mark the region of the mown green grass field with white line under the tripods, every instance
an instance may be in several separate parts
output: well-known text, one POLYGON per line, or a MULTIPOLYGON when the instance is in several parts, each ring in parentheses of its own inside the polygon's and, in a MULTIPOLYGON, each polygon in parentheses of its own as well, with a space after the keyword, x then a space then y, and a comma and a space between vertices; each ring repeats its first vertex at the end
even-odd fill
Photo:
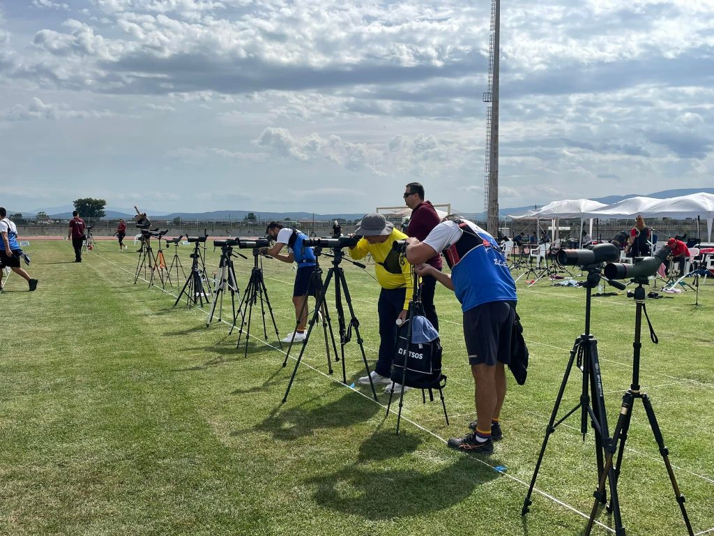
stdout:
MULTIPOLYGON (((188 267, 190 250, 179 249, 188 267)), ((593 433, 583 442, 579 413, 551 437, 526 517, 521 506, 570 348, 583 330, 583 289, 518 283, 528 382, 519 387, 509 377, 505 437, 493 456, 469 457, 445 444, 473 418, 473 380, 461 310, 443 287, 436 302, 451 426, 438 400, 423 405, 411 391, 396 436, 396 415, 385 417, 386 394, 376 403, 368 389, 341 384, 338 367, 326 374, 318 332, 281 405, 294 361, 281 366, 284 354, 271 326, 264 341, 259 314, 246 358, 228 325, 206 328, 205 312, 171 307, 176 287, 134 284, 136 254, 120 253, 114 242, 100 242, 82 264, 71 262, 66 242, 33 241, 28 251, 37 291, 26 292, 12 275, 0 296, 0 534, 582 532, 596 475, 593 433)), ((217 259, 208 252, 209 272, 217 259)), ((252 258, 236 259, 241 289, 251 266, 252 258)), ((374 362, 373 267, 344 267, 374 362)), ((283 337, 294 327, 293 271, 274 260, 263 268, 283 337)), ((714 534, 714 282, 700 290, 704 307, 693 307, 694 299, 687 292, 648 300, 660 343, 650 342, 645 322, 640 378, 694 532, 714 534)), ((610 430, 630 385, 634 319, 635 305, 623 295, 593 299, 610 430)), ((351 383, 363 364, 354 340, 346 350, 351 383)), ((572 375, 561 415, 578 403, 580 379, 572 375)), ((686 534, 640 402, 618 489, 628 535, 686 534)), ((598 522, 593 534, 613 533, 606 512, 598 522)))

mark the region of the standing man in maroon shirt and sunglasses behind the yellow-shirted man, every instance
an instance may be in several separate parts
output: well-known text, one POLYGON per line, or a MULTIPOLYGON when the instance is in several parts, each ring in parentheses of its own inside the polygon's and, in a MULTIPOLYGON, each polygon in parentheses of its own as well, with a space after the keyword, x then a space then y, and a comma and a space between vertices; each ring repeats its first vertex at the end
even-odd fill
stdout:
MULTIPOLYGON (((423 242, 431 229, 441 223, 441 218, 436 214, 436 209, 431 202, 424 201, 424 187, 418 182, 410 182, 406 185, 404 203, 411 209, 411 218, 409 226, 406 228, 406 234, 423 242)), ((430 264, 441 272, 441 254, 437 253, 426 264, 430 264)), ((436 307, 434 307, 435 289, 436 279, 433 276, 426 275, 421 278, 421 302, 424 306, 424 314, 438 331, 439 319, 436 316, 436 307)))

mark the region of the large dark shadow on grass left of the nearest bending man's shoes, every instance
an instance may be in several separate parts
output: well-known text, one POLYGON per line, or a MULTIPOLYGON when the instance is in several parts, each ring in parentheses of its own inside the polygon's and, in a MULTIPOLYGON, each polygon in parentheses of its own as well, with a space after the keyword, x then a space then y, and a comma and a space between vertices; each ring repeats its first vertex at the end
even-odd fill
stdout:
MULTIPOLYGON (((498 477, 491 467, 468 455, 432 472, 397 469, 386 462, 408 455, 420 443, 421 438, 408 433, 376 432, 360 446, 354 465, 308 480, 317 487, 315 502, 373 521, 421 517, 458 504, 476 487, 498 477)), ((408 462, 401 460, 402 465, 408 462)), ((488 464, 499 462, 489 458, 488 464)))

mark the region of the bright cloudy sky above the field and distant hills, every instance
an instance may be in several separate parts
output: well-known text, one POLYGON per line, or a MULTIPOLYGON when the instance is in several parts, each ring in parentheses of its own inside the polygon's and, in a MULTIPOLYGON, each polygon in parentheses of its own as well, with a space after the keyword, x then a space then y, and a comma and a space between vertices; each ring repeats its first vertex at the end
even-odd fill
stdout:
MULTIPOLYGON (((0 0, 0 204, 483 209, 490 0, 0 0)), ((714 1, 503 0, 501 207, 714 186, 714 1)))

